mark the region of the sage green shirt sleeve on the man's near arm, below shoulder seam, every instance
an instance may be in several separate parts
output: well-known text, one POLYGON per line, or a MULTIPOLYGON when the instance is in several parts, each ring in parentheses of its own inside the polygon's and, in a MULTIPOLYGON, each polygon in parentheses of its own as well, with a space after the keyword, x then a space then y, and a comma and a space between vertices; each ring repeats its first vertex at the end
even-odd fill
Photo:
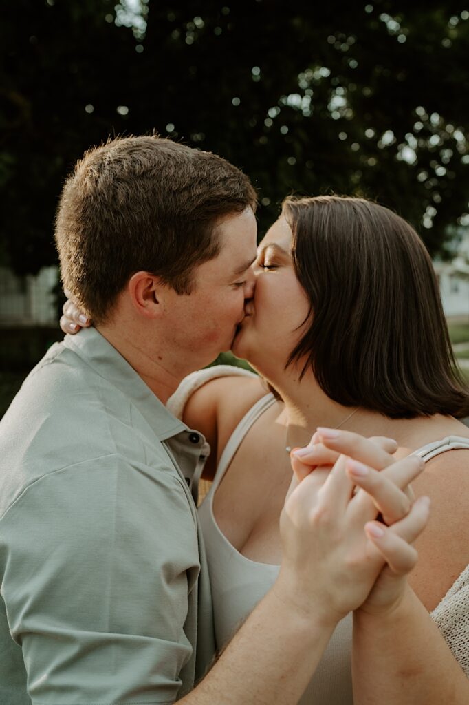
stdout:
POLYGON ((42 477, 2 517, 1 592, 33 705, 177 699, 200 569, 181 482, 106 455, 42 477))

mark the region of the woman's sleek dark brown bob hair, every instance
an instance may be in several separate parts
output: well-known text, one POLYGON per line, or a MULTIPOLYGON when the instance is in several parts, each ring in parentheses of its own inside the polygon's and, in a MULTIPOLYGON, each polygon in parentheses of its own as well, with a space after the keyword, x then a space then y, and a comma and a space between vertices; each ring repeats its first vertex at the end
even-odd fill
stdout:
POLYGON ((311 326, 288 364, 307 358, 339 404, 387 417, 469 415, 432 261, 413 228, 362 198, 288 197, 293 262, 311 326))

